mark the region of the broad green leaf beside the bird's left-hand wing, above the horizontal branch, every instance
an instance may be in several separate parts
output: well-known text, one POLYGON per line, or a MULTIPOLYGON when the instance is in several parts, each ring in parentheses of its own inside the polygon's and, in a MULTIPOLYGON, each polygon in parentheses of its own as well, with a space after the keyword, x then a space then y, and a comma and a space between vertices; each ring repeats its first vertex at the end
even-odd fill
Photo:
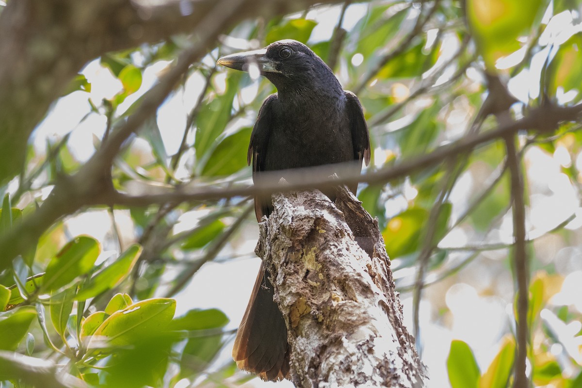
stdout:
POLYGON ((247 151, 252 128, 243 128, 225 137, 204 165, 202 175, 227 176, 247 166, 247 151))

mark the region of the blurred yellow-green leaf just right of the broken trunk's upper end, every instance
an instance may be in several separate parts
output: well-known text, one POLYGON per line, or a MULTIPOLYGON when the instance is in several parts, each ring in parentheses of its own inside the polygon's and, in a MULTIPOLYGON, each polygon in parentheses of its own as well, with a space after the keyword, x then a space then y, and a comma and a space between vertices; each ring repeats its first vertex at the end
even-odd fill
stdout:
POLYGON ((416 252, 427 219, 428 211, 421 208, 409 208, 392 217, 382 232, 388 256, 396 258, 416 252))

